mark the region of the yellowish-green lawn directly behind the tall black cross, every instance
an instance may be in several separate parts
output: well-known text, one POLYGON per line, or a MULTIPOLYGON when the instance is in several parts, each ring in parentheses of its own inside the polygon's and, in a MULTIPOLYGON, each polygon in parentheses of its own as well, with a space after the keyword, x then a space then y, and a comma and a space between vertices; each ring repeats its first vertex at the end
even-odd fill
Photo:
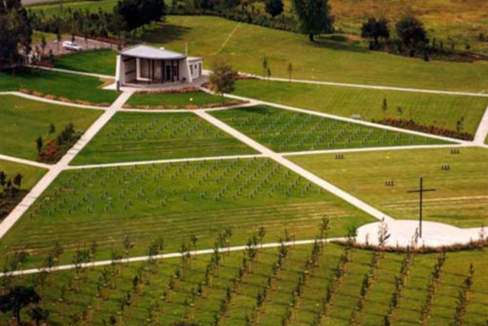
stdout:
POLYGON ((427 188, 437 190, 424 198, 424 218, 460 227, 488 224, 488 151, 462 148, 290 156, 314 174, 357 196, 394 218, 418 218, 419 177, 427 188), (449 171, 441 170, 449 165, 449 171), (393 180, 393 187, 385 181, 393 180))

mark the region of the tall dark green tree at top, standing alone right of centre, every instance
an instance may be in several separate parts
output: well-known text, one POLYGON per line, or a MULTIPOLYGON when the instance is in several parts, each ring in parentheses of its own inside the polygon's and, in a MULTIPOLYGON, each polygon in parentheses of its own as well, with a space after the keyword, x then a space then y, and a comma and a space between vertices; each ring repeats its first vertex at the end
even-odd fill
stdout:
POLYGON ((292 0, 298 15, 300 30, 313 42, 314 36, 332 31, 334 18, 327 0, 292 0))

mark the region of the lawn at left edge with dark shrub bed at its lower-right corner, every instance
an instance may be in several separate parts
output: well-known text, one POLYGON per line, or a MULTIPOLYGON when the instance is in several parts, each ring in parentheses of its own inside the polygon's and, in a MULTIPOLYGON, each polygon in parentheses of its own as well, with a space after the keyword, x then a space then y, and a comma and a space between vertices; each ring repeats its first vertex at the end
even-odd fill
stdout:
POLYGON ((101 110, 70 108, 14 95, 0 96, 0 153, 36 160, 36 139, 54 139, 73 123, 75 130, 86 130, 102 114, 101 110), (54 134, 49 126, 54 124, 54 134))

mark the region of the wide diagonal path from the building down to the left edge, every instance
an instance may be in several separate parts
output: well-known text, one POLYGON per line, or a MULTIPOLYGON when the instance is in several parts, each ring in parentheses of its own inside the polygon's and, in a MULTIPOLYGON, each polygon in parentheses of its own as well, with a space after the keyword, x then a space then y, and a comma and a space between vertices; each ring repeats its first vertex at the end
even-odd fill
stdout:
POLYGON ((69 162, 81 149, 102 129, 110 118, 119 110, 127 99, 132 95, 131 92, 123 92, 117 100, 105 110, 105 112, 95 121, 94 124, 85 131, 78 142, 61 158, 49 171, 44 174, 41 180, 31 189, 22 201, 10 212, 10 214, 0 223, 0 239, 10 230, 10 228, 20 219, 29 207, 41 196, 44 190, 56 179, 56 177, 68 167, 69 162))

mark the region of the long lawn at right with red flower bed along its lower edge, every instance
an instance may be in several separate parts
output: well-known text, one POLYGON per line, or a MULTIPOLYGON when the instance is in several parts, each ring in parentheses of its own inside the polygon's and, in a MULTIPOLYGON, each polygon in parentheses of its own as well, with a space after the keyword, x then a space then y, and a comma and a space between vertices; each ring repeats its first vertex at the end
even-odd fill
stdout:
POLYGON ((422 125, 456 130, 464 119, 462 131, 474 135, 488 106, 488 98, 411 93, 394 90, 361 89, 260 80, 241 80, 234 94, 263 101, 311 109, 350 118, 359 114, 364 120, 385 117, 413 119, 422 125), (386 99, 386 111, 383 111, 386 99))

